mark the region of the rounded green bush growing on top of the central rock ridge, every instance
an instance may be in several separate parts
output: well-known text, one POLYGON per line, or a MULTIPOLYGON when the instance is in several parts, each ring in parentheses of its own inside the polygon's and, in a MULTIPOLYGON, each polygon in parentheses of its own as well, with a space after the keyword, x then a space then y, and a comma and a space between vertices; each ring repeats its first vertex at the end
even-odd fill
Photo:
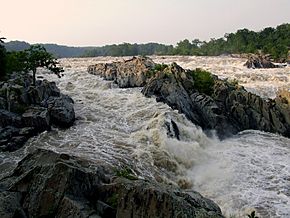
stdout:
POLYGON ((212 74, 200 68, 190 72, 194 81, 194 88, 200 93, 212 95, 214 86, 212 74))

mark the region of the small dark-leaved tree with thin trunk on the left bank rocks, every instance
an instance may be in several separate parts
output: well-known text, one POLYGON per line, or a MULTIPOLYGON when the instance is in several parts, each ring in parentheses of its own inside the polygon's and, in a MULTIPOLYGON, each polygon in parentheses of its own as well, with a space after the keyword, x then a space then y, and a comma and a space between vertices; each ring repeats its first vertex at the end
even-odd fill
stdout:
POLYGON ((24 70, 32 71, 33 85, 36 81, 36 71, 38 67, 44 67, 56 74, 59 78, 63 68, 57 66, 59 62, 48 53, 41 45, 32 45, 29 49, 24 50, 24 70))

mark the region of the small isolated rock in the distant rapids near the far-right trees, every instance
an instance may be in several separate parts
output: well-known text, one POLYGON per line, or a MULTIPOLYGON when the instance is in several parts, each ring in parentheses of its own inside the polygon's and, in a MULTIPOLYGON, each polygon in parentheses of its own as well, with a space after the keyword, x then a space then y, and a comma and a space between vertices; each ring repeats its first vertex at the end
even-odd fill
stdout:
POLYGON ((277 68, 282 67, 283 65, 275 65, 273 64, 268 56, 262 55, 251 55, 248 57, 247 62, 245 63, 247 68, 277 68))

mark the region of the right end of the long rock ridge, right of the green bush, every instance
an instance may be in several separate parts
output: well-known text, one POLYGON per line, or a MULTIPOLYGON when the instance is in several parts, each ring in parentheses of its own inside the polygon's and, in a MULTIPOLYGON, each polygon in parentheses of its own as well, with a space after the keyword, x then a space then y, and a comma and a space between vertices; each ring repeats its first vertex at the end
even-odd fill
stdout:
POLYGON ((215 82, 213 99, 238 131, 257 129, 290 137, 289 112, 276 100, 262 99, 222 80, 215 82))

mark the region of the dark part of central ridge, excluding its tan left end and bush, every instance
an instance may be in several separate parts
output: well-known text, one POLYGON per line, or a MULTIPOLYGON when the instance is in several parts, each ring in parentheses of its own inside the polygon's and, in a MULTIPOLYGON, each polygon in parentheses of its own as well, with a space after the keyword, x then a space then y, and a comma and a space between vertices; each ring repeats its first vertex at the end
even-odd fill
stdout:
POLYGON ((265 100, 241 86, 213 78, 212 94, 204 94, 196 89, 190 71, 172 64, 152 77, 142 93, 147 97, 156 96, 157 101, 184 113, 203 129, 216 130, 220 138, 246 129, 290 137, 288 102, 265 100))

